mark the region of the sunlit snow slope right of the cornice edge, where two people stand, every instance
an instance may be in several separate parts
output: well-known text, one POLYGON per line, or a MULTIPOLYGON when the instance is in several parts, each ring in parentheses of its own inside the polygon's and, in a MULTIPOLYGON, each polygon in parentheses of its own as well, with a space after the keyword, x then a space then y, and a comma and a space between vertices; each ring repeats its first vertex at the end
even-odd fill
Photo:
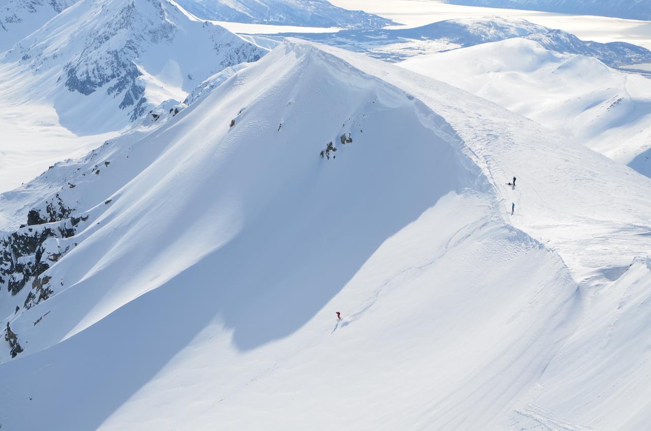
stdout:
MULTIPOLYGON (((324 49, 360 70, 378 68, 324 49)), ((586 299, 579 329, 501 426, 432 428, 644 429, 651 423, 644 384, 651 378, 651 180, 462 90, 393 65, 381 76, 458 131, 509 213, 516 204, 510 223, 557 251, 586 299), (517 186, 505 184, 514 175, 517 186)))

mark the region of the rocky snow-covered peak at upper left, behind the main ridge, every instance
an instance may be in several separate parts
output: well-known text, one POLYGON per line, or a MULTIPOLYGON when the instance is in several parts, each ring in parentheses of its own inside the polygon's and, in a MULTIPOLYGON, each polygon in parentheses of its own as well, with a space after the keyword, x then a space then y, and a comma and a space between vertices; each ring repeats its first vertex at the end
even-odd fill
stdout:
POLYGON ((167 0, 84 0, 21 40, 2 69, 8 97, 52 103, 62 126, 86 134, 120 129, 264 53, 167 0))

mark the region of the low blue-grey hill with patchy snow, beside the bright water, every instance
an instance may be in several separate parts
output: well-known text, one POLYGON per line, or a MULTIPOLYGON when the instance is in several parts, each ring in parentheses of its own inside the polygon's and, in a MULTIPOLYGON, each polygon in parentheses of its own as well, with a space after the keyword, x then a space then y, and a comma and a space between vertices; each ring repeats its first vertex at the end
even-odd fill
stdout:
POLYGON ((640 46, 625 42, 600 44, 580 40, 565 31, 549 29, 527 20, 499 16, 438 21, 413 29, 286 33, 275 38, 282 36, 299 37, 363 52, 385 61, 402 61, 423 54, 524 37, 536 40, 552 51, 596 57, 613 67, 651 62, 651 51, 640 46))

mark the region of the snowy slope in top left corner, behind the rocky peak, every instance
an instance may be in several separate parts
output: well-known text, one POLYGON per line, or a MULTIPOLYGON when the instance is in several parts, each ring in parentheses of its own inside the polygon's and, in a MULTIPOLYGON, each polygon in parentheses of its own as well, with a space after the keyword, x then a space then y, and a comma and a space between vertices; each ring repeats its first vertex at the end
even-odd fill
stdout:
POLYGON ((77 0, 1 0, 0 52, 29 35, 77 0))

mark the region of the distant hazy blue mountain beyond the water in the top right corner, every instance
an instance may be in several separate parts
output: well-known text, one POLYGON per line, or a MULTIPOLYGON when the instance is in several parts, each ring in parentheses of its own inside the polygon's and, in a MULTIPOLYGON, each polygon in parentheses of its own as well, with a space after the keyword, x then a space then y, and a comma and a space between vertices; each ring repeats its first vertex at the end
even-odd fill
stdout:
POLYGON ((651 20, 647 0, 445 0, 454 5, 544 10, 561 14, 600 15, 651 20))

